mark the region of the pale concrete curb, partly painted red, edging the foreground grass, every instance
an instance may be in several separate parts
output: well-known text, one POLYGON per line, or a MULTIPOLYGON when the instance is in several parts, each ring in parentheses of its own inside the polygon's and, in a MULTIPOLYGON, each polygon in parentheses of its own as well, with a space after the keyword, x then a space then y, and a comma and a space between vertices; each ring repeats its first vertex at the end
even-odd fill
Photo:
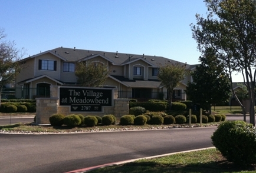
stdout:
POLYGON ((122 165, 122 164, 127 164, 129 162, 134 162, 140 159, 152 159, 152 158, 159 158, 159 157, 166 157, 169 155, 174 155, 174 154, 179 154, 179 153, 185 153, 185 152, 192 152, 192 151, 201 151, 204 149, 211 149, 211 148, 215 148, 215 147, 208 147, 208 148, 200 148, 200 149, 192 149, 192 150, 188 150, 188 151, 181 151, 181 152, 172 152, 172 153, 168 153, 168 154, 162 154, 162 155, 154 155, 151 157, 144 157, 144 158, 137 158, 137 159, 129 159, 126 161, 120 161, 120 162, 112 162, 109 164, 103 164, 103 165, 97 165, 95 167, 88 167, 88 168, 83 168, 83 169, 77 169, 74 171, 69 171, 69 172, 64 172, 64 173, 84 173, 84 172, 88 172, 88 171, 92 171, 94 169, 99 169, 99 168, 104 168, 104 167, 111 167, 111 166, 116 166, 116 165, 122 165))

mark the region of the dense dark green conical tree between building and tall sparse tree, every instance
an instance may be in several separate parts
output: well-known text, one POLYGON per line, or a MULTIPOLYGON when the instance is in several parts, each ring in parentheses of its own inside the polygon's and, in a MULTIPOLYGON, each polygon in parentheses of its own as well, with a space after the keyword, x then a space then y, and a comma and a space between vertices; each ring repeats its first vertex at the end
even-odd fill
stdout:
POLYGON ((231 84, 222 64, 208 50, 208 55, 200 57, 201 65, 192 72, 193 82, 189 82, 186 94, 195 104, 200 104, 211 114, 212 104, 227 102, 231 96, 231 84))

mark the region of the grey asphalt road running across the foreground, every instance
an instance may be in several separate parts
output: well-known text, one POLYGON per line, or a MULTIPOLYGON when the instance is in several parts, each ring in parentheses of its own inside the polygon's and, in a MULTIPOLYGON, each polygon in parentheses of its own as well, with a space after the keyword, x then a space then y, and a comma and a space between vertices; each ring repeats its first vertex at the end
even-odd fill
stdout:
POLYGON ((84 134, 0 134, 0 172, 67 172, 110 162, 213 147, 216 127, 84 134))

